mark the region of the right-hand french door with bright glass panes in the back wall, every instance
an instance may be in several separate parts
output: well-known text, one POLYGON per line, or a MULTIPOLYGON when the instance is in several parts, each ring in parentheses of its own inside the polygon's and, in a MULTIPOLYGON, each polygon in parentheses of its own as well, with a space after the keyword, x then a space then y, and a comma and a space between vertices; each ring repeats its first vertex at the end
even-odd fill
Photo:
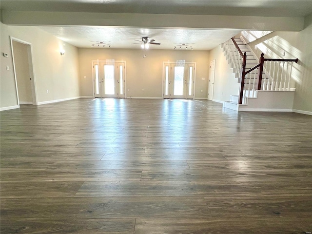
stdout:
POLYGON ((164 98, 194 98, 195 62, 164 62, 164 98))

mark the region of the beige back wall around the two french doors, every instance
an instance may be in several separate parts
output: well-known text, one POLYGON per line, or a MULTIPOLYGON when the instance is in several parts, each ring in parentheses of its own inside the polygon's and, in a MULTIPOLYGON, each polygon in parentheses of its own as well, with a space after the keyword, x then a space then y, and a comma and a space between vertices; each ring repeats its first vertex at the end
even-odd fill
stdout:
POLYGON ((153 50, 153 48, 149 50, 80 48, 81 96, 93 96, 92 60, 115 59, 126 61, 126 89, 129 89, 129 91, 126 91, 127 97, 146 98, 162 98, 163 61, 185 60, 186 62, 196 62, 195 98, 207 98, 208 58, 208 51, 153 50), (146 55, 145 59, 143 55, 146 55), (205 80, 201 78, 205 78, 205 80), (142 89, 145 91, 142 92, 142 89))

